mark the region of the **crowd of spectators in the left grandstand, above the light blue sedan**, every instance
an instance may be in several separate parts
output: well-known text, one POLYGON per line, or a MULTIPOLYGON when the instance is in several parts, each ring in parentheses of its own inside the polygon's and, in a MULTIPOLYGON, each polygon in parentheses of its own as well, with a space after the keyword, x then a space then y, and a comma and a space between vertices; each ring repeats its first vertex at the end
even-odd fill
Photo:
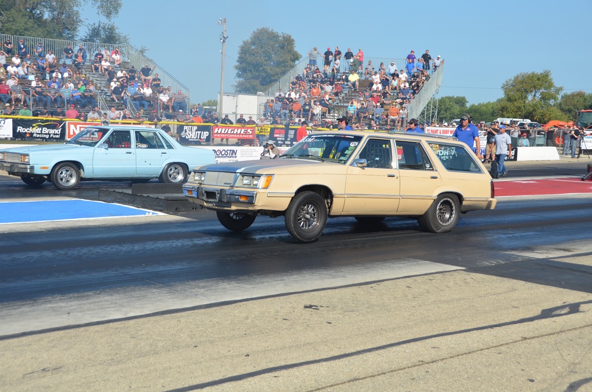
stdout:
POLYGON ((16 115, 26 107, 24 113, 49 113, 59 118, 72 105, 87 114, 97 106, 101 91, 107 92, 105 103, 116 107, 120 114, 134 108, 140 111, 134 117, 147 119, 151 111, 156 111, 160 117, 172 120, 179 113, 188 113, 187 95, 162 86, 158 73, 153 73, 155 66, 146 64, 139 72, 134 66, 124 69, 117 48, 99 49, 91 56, 89 59, 82 44, 75 49, 67 45, 60 56, 46 51, 41 42, 28 48, 22 39, 14 46, 7 38, 0 50, 0 102, 4 114, 16 115))

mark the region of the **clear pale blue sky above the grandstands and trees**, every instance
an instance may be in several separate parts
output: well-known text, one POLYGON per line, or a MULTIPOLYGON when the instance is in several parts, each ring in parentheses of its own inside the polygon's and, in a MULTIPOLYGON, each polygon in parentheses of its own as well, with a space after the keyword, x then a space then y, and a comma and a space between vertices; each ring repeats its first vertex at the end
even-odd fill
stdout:
MULTIPOLYGON (((592 0, 123 0, 114 23, 134 47, 147 47, 148 57, 188 86, 194 103, 218 97, 218 19, 226 18, 224 92, 234 92, 240 44, 268 27, 291 35, 303 57, 314 46, 321 52, 339 46, 344 53, 362 48, 365 56, 388 58, 404 58, 411 50, 419 57, 429 49, 446 63, 440 97, 464 96, 477 104, 502 97, 501 85, 518 73, 545 69, 564 92, 592 92, 590 15, 592 0)), ((88 7, 81 16, 97 19, 88 7)))

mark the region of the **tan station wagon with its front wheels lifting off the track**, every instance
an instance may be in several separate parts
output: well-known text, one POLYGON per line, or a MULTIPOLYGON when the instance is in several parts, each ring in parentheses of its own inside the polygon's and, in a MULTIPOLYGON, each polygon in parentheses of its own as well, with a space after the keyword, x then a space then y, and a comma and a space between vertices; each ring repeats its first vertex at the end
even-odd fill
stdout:
POLYGON ((409 132, 314 132, 279 159, 194 169, 183 191, 229 230, 247 229, 258 215, 285 216, 301 242, 316 240, 327 217, 413 217, 422 230, 444 233, 459 214, 496 206, 491 176, 466 144, 409 132))

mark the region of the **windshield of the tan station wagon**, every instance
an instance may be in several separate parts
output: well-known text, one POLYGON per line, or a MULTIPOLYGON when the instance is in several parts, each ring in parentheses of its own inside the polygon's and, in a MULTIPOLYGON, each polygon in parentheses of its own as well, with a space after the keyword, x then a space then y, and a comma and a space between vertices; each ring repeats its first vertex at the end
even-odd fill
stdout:
POLYGON ((358 148, 360 140, 362 136, 348 134, 308 135, 279 158, 345 163, 358 148))

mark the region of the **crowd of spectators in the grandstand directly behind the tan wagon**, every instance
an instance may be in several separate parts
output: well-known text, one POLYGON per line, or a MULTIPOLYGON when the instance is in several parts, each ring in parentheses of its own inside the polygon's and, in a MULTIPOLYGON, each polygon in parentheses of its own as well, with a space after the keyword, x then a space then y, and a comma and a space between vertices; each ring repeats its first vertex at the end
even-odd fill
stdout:
POLYGON ((336 127, 328 118, 345 114, 353 128, 399 129, 406 125, 408 105, 442 63, 440 56, 432 59, 429 50, 419 59, 412 50, 406 67, 398 70, 394 61, 378 67, 372 60, 365 62, 362 49, 353 53, 348 48, 343 53, 339 47, 327 47, 321 53, 314 47, 308 52, 306 68, 292 79, 288 91, 279 89, 265 102, 263 115, 268 121, 294 120, 298 125, 298 120, 308 124, 314 120, 336 127), (331 116, 339 107, 345 113, 331 116))

